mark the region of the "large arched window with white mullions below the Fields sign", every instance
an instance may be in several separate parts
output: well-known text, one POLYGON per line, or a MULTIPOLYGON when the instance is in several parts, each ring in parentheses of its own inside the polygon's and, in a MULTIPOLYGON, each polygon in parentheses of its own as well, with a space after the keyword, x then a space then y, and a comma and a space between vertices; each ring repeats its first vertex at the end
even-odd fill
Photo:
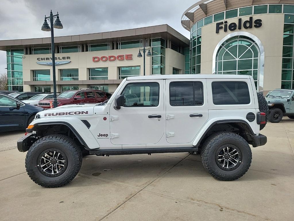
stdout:
POLYGON ((216 73, 229 75, 251 75, 255 87, 259 85, 260 51, 256 43, 245 36, 226 40, 216 55, 216 73))

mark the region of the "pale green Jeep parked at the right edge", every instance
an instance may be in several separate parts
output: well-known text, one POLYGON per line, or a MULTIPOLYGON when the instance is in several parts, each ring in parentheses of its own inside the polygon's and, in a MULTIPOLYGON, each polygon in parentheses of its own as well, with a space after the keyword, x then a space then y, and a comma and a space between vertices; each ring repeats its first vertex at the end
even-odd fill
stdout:
POLYGON ((268 102, 269 118, 279 123, 283 116, 294 119, 294 89, 275 89, 265 99, 268 102))

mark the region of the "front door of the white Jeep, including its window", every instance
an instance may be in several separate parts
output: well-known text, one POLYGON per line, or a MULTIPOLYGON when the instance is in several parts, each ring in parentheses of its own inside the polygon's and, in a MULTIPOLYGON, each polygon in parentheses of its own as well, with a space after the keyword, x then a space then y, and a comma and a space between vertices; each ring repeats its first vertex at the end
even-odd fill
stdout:
MULTIPOLYGON (((110 137, 116 145, 156 144, 164 135, 163 80, 130 82, 118 93, 125 105, 110 108, 110 137)), ((126 147, 128 148, 128 147, 126 147)))

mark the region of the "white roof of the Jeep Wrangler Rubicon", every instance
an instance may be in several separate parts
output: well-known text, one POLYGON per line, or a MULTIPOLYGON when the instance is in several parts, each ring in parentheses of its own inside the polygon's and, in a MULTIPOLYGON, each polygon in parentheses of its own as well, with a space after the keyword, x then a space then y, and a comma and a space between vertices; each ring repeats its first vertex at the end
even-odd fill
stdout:
POLYGON ((212 75, 212 74, 198 74, 198 75, 146 75, 127 77, 127 80, 157 80, 157 79, 194 79, 194 78, 228 78, 228 79, 248 79, 249 75, 212 75))

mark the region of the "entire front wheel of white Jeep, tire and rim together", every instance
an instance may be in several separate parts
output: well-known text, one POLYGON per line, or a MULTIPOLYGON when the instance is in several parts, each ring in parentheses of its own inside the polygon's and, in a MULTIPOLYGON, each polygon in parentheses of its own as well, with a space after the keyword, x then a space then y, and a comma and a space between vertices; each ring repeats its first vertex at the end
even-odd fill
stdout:
POLYGON ((82 153, 68 136, 54 134, 40 138, 26 154, 26 171, 42 187, 62 187, 76 177, 82 153))

